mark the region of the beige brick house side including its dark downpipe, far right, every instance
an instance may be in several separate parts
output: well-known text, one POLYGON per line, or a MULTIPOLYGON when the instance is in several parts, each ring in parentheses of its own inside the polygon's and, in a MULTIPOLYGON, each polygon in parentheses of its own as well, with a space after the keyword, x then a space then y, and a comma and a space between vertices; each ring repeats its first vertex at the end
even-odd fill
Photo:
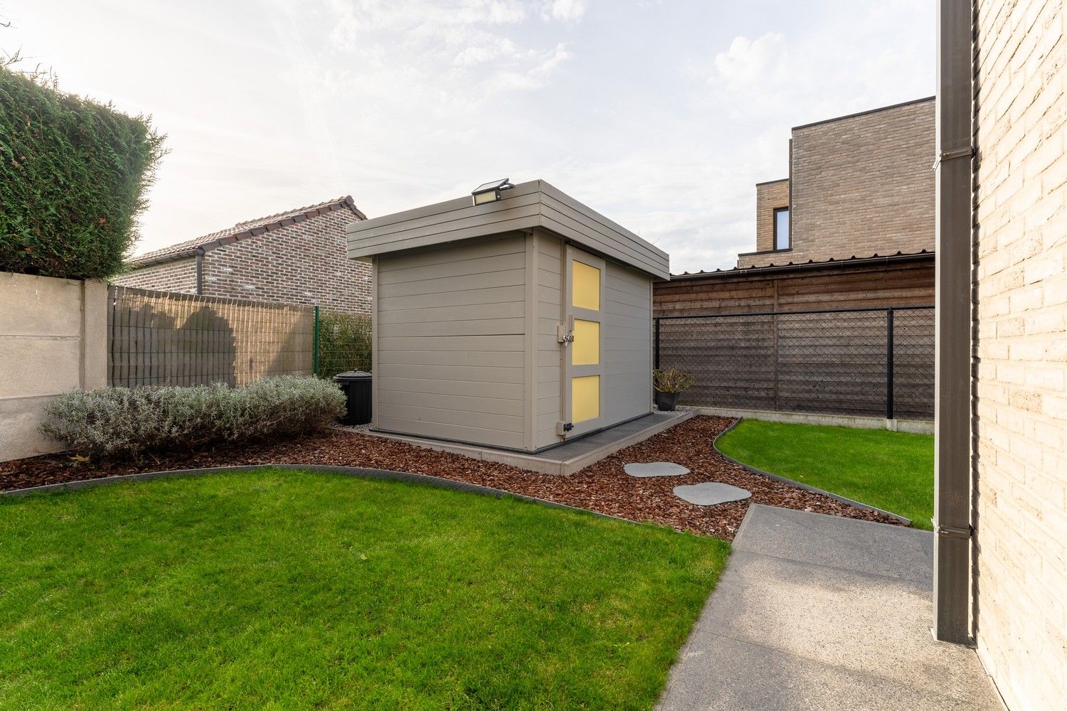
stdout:
POLYGON ((1067 13, 941 0, 935 629, 1067 704, 1067 13))

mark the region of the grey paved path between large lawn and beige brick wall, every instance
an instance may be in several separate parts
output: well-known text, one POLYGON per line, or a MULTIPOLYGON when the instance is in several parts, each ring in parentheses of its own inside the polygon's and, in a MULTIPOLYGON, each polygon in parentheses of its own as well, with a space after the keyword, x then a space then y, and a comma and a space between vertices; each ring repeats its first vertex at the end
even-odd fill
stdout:
POLYGON ((933 566, 928 531, 752 504, 657 708, 999 711, 933 566))

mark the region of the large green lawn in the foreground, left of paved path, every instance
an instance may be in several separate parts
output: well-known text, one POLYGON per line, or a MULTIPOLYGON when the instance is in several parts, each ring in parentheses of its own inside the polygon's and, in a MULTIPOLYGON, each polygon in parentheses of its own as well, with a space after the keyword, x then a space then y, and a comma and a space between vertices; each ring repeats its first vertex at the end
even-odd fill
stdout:
POLYGON ((0 708, 651 708, 729 545, 265 470, 0 497, 0 708))

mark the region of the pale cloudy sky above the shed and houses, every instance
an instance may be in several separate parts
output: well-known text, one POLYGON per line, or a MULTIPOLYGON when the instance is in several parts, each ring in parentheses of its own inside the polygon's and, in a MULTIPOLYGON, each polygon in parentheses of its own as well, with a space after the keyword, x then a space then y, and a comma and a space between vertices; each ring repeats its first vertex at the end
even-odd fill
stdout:
POLYGON ((0 47, 152 114, 137 252, 351 194, 544 178, 671 255, 754 248, 791 126, 934 93, 934 0, 0 0, 0 47))

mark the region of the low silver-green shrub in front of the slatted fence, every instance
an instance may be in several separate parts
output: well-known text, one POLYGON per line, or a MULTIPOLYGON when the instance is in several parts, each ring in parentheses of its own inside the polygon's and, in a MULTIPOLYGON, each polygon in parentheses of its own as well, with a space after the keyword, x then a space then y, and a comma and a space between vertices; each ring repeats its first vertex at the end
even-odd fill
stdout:
POLYGON ((219 383, 75 389, 46 411, 41 431, 75 452, 136 459, 148 452, 315 432, 344 414, 345 395, 330 381, 282 376, 236 388, 219 383))

